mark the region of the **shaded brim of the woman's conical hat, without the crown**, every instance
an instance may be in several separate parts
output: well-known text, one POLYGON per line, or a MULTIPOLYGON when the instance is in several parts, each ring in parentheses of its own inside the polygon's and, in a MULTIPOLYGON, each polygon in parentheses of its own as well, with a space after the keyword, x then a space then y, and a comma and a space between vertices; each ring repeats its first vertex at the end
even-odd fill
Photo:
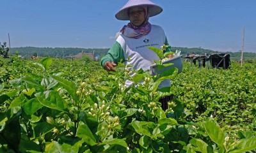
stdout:
MULTIPOLYGON (((153 17, 155 15, 158 15, 159 13, 161 13, 163 11, 163 8, 161 8, 160 6, 157 6, 156 4, 138 4, 138 5, 134 5, 134 6, 148 6, 148 17, 153 17)), ((118 13, 116 13, 115 17, 118 20, 130 20, 129 15, 128 15, 128 9, 132 8, 134 6, 130 6, 127 8, 124 8, 120 11, 118 11, 118 13)))

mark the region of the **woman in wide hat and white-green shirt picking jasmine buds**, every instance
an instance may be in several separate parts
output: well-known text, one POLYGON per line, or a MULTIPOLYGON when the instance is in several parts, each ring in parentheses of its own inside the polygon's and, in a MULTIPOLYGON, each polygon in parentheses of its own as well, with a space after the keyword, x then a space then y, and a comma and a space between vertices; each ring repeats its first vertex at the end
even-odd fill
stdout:
MULTIPOLYGON (((163 9, 152 3, 150 0, 129 0, 121 8, 115 17, 118 20, 129 20, 129 24, 121 29, 120 36, 116 39, 108 54, 101 59, 101 65, 106 71, 115 71, 118 62, 123 61, 126 65, 132 65, 133 69, 147 71, 154 60, 159 60, 157 54, 147 47, 159 48, 169 45, 163 29, 159 25, 152 25, 148 22, 149 17, 161 13, 163 9)), ((170 52, 170 48, 166 52, 170 52)), ((132 74, 135 75, 135 74, 132 74)), ((125 81, 127 87, 132 85, 129 80, 125 81)), ((159 85, 170 87, 170 80, 164 80, 159 85)), ((166 110, 170 96, 163 98, 162 108, 166 110), (164 104, 163 104, 164 103, 164 104)))

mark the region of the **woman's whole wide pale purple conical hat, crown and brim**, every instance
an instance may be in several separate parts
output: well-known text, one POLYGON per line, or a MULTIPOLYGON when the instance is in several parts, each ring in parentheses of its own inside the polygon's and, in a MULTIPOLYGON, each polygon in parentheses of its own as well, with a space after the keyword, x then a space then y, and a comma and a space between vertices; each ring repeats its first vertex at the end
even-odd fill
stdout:
POLYGON ((133 6, 148 6, 148 15, 149 17, 153 17, 158 15, 163 11, 163 8, 157 6, 152 3, 150 0, 129 0, 118 13, 116 13, 115 17, 118 20, 129 20, 128 9, 133 6))

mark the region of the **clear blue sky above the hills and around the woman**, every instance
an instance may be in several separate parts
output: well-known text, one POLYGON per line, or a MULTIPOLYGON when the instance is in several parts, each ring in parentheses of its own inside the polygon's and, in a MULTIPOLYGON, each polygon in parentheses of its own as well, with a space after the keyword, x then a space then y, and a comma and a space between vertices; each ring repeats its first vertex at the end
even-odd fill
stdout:
MULTIPOLYGON (((127 0, 1 0, 0 42, 11 47, 110 48, 128 21, 115 13, 127 0)), ((256 52, 255 0, 152 0, 172 47, 256 52)))

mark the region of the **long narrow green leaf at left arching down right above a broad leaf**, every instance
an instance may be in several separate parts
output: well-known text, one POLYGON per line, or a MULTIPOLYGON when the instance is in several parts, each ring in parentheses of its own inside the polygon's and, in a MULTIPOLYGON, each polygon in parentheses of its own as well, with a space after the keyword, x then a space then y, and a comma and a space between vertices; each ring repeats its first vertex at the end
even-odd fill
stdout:
POLYGON ((61 78, 55 75, 49 75, 49 76, 57 80, 59 84, 68 91, 68 93, 70 94, 70 96, 72 96, 74 101, 76 102, 78 101, 78 97, 76 94, 76 91, 77 91, 76 85, 74 85, 72 82, 68 80, 65 80, 64 78, 61 78))

